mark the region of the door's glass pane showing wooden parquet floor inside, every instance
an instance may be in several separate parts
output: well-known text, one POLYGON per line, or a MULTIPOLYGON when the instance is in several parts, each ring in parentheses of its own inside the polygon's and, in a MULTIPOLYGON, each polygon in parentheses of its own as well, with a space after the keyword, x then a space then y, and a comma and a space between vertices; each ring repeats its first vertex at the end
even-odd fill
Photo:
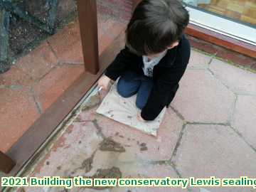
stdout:
POLYGON ((183 0, 188 6, 256 27, 256 0, 183 0))

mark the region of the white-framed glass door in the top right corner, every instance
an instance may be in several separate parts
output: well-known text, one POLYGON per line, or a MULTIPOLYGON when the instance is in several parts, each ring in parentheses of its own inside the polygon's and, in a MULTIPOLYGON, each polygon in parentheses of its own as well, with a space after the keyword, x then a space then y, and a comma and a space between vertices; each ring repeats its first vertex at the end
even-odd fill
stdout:
POLYGON ((191 23, 256 46, 256 0, 183 0, 191 23))

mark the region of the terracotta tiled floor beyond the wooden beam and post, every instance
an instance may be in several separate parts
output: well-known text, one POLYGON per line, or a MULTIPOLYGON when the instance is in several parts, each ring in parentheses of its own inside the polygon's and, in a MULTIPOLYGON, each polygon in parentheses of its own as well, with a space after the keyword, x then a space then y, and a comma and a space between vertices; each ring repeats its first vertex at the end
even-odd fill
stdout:
MULTIPOLYGON (((97 6, 102 53, 126 26, 132 4, 129 0, 98 0, 97 6)), ((76 20, 1 74, 0 151, 6 152, 83 71, 76 20)))

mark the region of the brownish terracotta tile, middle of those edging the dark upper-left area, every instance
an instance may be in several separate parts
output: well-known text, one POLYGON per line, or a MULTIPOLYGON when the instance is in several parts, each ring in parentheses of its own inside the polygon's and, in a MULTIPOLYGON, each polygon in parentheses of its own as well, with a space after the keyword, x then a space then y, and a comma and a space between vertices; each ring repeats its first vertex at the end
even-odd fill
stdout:
POLYGON ((42 43, 16 63, 17 68, 30 75, 33 80, 42 78, 55 65, 57 65, 57 59, 47 42, 42 43))

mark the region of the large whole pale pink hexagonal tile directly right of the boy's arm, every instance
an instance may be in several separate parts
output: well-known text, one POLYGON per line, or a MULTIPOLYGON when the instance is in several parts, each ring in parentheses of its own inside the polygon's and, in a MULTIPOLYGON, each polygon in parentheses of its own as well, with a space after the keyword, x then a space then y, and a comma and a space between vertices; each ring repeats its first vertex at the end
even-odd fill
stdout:
POLYGON ((235 95, 206 70, 187 70, 172 106, 188 122, 229 122, 235 95))

